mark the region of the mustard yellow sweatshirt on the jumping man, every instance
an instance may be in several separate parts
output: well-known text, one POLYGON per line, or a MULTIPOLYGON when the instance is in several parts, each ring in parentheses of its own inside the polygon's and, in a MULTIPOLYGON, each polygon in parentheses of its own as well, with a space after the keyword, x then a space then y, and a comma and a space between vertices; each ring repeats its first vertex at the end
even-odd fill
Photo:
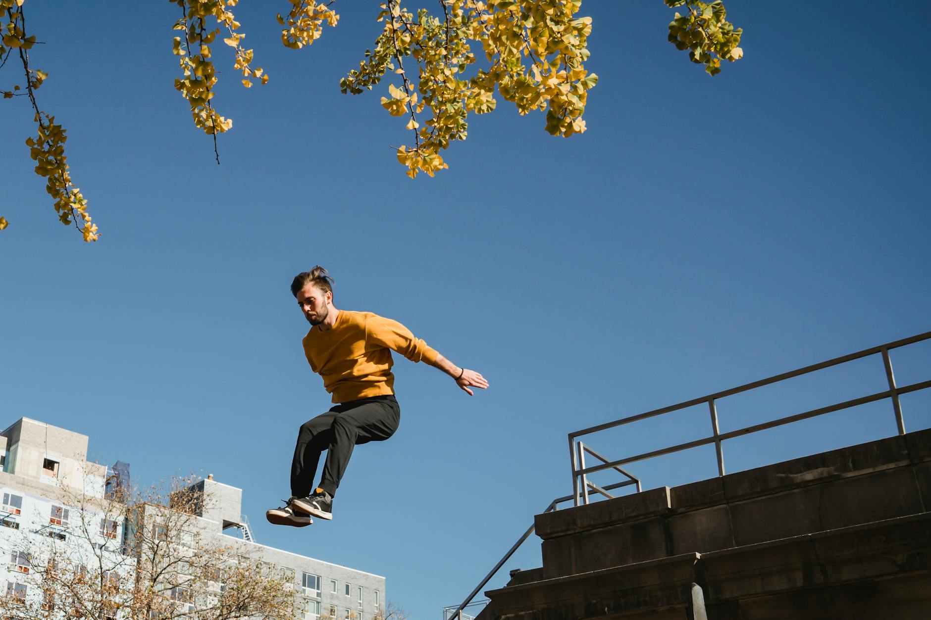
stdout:
POLYGON ((439 357, 398 321, 371 312, 339 312, 331 329, 321 331, 316 325, 304 336, 304 355, 310 368, 323 377, 333 402, 394 394, 392 350, 427 364, 439 357))

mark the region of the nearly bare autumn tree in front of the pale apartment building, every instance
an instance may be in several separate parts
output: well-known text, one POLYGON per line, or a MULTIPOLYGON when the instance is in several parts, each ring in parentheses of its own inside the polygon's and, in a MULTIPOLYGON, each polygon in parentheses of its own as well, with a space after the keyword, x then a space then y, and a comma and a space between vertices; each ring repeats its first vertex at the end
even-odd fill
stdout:
POLYGON ((199 519, 193 478, 144 491, 59 489, 60 504, 20 532, 9 553, 16 579, 0 617, 21 620, 234 620, 293 618, 285 575, 250 546, 199 519), (48 520, 44 524, 45 519, 48 520))

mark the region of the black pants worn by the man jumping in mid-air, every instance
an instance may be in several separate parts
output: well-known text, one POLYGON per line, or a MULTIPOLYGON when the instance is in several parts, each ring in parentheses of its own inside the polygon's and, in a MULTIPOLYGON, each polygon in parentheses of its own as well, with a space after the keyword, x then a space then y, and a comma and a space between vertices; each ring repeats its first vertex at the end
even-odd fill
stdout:
POLYGON ((291 495, 306 497, 314 490, 320 454, 327 460, 319 487, 336 494, 349 465, 353 448, 370 441, 384 441, 398 430, 401 410, 393 396, 350 400, 301 425, 291 462, 291 495))

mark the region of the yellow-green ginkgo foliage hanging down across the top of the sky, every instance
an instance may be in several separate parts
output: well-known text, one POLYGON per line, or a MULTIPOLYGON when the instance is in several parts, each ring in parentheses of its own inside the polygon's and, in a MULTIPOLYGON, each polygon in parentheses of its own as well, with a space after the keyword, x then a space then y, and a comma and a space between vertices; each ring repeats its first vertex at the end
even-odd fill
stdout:
MULTIPOLYGON (((0 90, 4 99, 29 97, 38 125, 38 138, 27 144, 37 162, 35 171, 47 178, 47 192, 54 198, 54 207, 61 222, 81 231, 86 241, 97 240, 97 226, 90 222, 87 200, 72 185, 64 156, 65 130, 54 117, 40 111, 34 97, 47 76, 32 70, 26 50, 34 44, 34 36, 23 31, 22 5, 26 0, 0 0, 0 16, 6 12, 0 44, 0 69, 14 48, 19 48, 26 73, 26 92, 17 92, 19 85, 0 90), (13 8, 16 7, 14 11, 13 8)), ((283 0, 279 0, 283 1, 283 0)), ((252 68, 252 50, 240 42, 245 36, 238 32, 239 23, 233 15, 238 0, 169 0, 182 8, 182 19, 174 29, 183 30, 183 41, 174 37, 173 53, 179 57, 182 75, 174 87, 188 101, 194 124, 208 133, 213 152, 220 163, 218 133, 233 126, 230 118, 218 114, 212 101, 216 94, 216 70, 209 44, 225 29, 223 42, 234 48, 234 69, 241 71, 245 88, 251 78, 261 84, 268 75, 261 67, 252 68), (213 28, 209 18, 216 20, 213 28), (197 50, 198 54, 193 52, 197 50)), ((710 74, 721 72, 722 61, 736 61, 743 56, 739 47, 742 31, 727 21, 722 0, 664 0, 668 7, 686 7, 684 15, 675 14, 668 26, 668 41, 689 58, 705 65, 710 74)), ((277 15, 281 24, 281 42, 298 49, 310 46, 322 33, 323 24, 336 26, 339 16, 331 8, 335 0, 289 0, 287 17, 277 15)), ((381 103, 392 116, 409 116, 406 128, 414 132, 411 148, 396 149, 398 162, 415 178, 419 172, 429 176, 449 168, 442 151, 452 142, 466 140, 468 115, 487 114, 496 109, 495 97, 513 103, 519 115, 537 111, 546 115, 545 129, 564 138, 586 131, 583 119, 587 94, 598 82, 598 75, 589 73, 585 62, 589 58, 587 36, 592 30, 589 17, 579 17, 581 0, 539 2, 538 0, 439 0, 442 13, 427 8, 413 14, 400 7, 400 0, 381 0, 377 20, 383 30, 358 70, 350 71, 342 80, 343 92, 359 94, 379 84, 388 69, 401 76, 403 89, 390 85, 390 97, 381 103), (475 51, 473 51, 473 48, 475 51), (466 76, 476 56, 483 55, 487 68, 479 68, 466 76), (405 58, 407 57, 407 58, 405 58), (412 81, 406 73, 412 63, 417 65, 419 80, 412 81), (429 108, 431 117, 421 128, 418 116, 429 108)), ((433 5, 436 7, 436 5, 433 5)), ((0 230, 7 227, 0 217, 0 230)))

